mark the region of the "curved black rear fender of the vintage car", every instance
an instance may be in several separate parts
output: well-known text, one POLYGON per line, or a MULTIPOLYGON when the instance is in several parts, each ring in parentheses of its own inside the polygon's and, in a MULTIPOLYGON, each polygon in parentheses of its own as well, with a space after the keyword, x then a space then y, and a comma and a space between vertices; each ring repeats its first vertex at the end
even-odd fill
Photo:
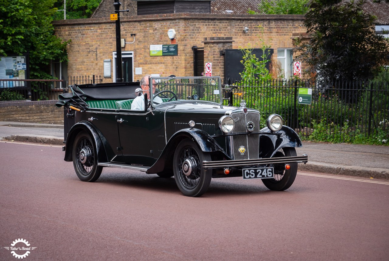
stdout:
POLYGON ((98 162, 107 162, 107 156, 104 150, 104 146, 102 143, 102 139, 100 138, 100 135, 98 131, 93 127, 93 125, 86 121, 78 122, 77 124, 73 125, 73 127, 70 129, 67 139, 66 139, 66 145, 65 145, 65 161, 73 161, 72 157, 72 151, 73 151, 73 144, 74 139, 77 137, 77 134, 79 134, 81 131, 88 132, 92 139, 94 140, 96 144, 96 151, 98 155, 98 162))

